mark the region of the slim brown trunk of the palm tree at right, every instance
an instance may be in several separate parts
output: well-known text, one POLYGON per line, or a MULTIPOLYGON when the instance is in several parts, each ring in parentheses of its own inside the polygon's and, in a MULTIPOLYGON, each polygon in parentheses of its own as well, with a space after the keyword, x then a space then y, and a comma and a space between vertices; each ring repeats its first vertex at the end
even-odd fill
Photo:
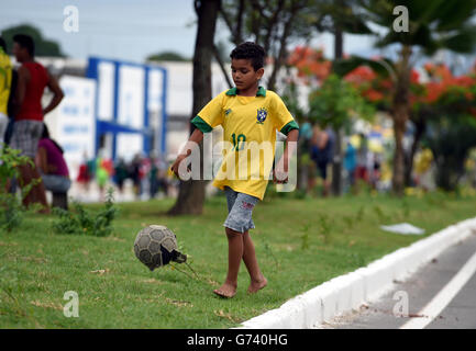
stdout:
POLYGON ((397 64, 397 82, 392 100, 395 156, 391 185, 397 196, 402 196, 405 190, 405 150, 402 141, 409 118, 410 55, 411 47, 403 46, 400 61, 397 64))

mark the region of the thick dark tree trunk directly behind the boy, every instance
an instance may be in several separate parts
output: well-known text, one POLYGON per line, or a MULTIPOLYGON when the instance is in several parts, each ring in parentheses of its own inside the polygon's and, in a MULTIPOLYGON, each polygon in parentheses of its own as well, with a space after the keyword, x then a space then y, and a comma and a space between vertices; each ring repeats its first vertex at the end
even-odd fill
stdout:
MULTIPOLYGON (((220 0, 195 1, 198 16, 197 37, 193 55, 193 118, 197 113, 211 100, 211 60, 213 57, 213 37, 217 24, 220 0)), ((190 120, 191 120, 190 118, 190 120)), ((190 124, 190 133, 193 125, 190 124)), ((200 145, 200 155, 202 155, 200 145)), ((203 171, 202 158, 200 161, 203 171)), ((168 211, 169 215, 201 214, 204 203, 204 186, 207 181, 180 181, 178 197, 175 205, 168 211)))

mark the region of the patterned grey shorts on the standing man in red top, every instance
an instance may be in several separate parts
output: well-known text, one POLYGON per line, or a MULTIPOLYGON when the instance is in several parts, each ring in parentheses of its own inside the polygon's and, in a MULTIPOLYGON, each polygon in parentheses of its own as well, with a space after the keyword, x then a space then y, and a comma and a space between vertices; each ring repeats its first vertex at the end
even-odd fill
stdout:
POLYGON ((10 140, 12 149, 21 150, 21 155, 34 158, 38 149, 38 141, 43 133, 43 122, 15 121, 10 140))

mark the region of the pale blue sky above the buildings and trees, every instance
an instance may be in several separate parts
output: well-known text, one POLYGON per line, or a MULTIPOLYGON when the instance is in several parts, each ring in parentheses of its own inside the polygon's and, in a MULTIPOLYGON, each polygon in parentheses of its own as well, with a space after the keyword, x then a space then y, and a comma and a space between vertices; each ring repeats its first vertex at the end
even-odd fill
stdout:
MULTIPOLYGON (((141 63, 146 56, 173 50, 191 57, 196 14, 192 0, 1 0, 0 31, 22 23, 33 24, 44 37, 60 43, 70 57, 102 56, 141 63), (8 2, 8 4, 5 4, 8 2), (79 32, 63 29, 67 5, 79 11, 79 32)), ((215 42, 226 42, 228 32, 218 29, 215 42)), ((291 43, 299 44, 299 43, 291 43)), ((313 46, 323 46, 332 57, 332 37, 320 35, 313 46)), ((375 55, 372 39, 346 36, 344 50, 375 55)), ((366 55, 367 54, 367 55, 366 55)))

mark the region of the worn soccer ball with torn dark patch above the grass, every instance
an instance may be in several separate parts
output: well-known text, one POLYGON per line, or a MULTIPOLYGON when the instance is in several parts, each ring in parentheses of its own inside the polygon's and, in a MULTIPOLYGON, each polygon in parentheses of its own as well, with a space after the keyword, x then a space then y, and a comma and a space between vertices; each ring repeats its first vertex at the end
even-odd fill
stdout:
POLYGON ((165 226, 152 225, 137 233, 134 242, 135 257, 151 271, 170 261, 184 263, 187 256, 177 249, 175 234, 165 226))

